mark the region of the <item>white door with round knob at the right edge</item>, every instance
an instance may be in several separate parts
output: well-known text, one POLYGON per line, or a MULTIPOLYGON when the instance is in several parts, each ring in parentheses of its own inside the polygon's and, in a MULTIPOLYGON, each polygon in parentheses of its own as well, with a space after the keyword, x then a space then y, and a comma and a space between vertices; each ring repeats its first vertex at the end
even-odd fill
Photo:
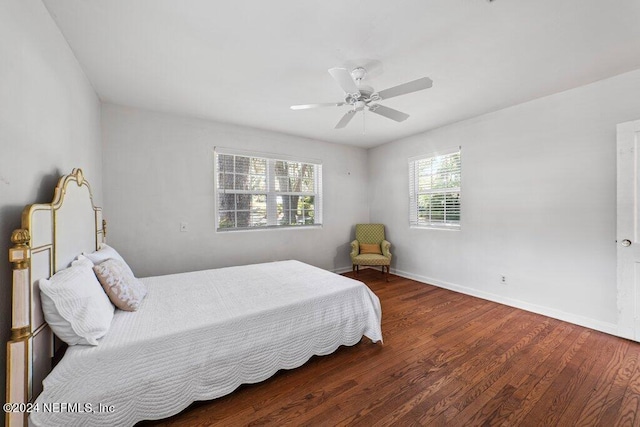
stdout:
POLYGON ((618 335, 640 341, 640 120, 617 133, 618 335))

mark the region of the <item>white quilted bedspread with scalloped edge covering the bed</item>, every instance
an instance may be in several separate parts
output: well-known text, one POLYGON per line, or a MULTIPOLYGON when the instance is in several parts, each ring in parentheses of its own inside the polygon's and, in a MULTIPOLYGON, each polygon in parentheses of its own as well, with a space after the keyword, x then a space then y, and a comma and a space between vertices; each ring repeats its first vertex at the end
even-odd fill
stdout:
POLYGON ((142 280, 149 293, 137 312, 118 310, 97 347, 67 349, 44 381, 31 424, 165 418, 363 335, 382 340, 380 301, 369 288, 298 261, 142 280), (80 405, 44 412, 44 402, 80 405), (87 403, 96 412, 113 405, 113 412, 69 412, 87 403))

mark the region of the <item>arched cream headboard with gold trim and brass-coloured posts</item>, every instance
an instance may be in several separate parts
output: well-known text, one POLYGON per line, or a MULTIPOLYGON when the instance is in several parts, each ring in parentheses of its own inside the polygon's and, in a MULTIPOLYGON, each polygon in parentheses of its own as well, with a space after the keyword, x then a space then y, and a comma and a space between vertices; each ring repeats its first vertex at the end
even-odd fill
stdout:
MULTIPOLYGON (((13 263, 11 340, 7 343, 8 403, 27 404, 42 391, 52 368, 53 333, 44 320, 38 280, 69 266, 83 252, 104 241, 102 209, 93 204, 81 169, 60 178, 53 201, 28 205, 22 228, 11 235, 13 263)), ((24 412, 7 412, 7 426, 27 425, 24 412)))

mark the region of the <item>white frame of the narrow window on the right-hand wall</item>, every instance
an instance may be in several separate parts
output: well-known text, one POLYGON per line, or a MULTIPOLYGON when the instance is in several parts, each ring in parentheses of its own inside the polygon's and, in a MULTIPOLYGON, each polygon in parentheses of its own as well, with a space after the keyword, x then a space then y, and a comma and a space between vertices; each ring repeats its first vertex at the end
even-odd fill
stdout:
MULTIPOLYGON (((429 154, 410 157, 408 159, 409 164, 409 227, 410 228, 423 228, 423 229, 435 229, 435 230, 452 230, 458 231, 462 225, 462 147, 454 147, 446 150, 440 150, 429 154), (418 163, 424 160, 433 160, 438 157, 446 157, 457 154, 459 156, 459 169, 457 171, 451 171, 450 173, 458 173, 459 181, 458 186, 443 187, 440 189, 430 189, 427 191, 420 191, 419 189, 419 169, 418 163), (446 213, 444 214, 444 220, 440 221, 420 221, 418 199, 421 195, 446 195, 450 193, 457 193, 458 201, 458 219, 447 221, 446 213)), ((445 202, 446 212, 446 202, 445 202)))

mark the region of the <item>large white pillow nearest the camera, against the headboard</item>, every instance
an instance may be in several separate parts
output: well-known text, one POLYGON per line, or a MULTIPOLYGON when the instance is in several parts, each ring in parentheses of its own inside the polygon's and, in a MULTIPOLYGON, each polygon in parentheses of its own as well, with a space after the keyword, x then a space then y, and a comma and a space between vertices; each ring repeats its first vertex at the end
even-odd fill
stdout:
POLYGON ((71 267, 39 280, 44 318, 69 345, 98 345, 111 326, 115 309, 92 268, 91 261, 78 257, 71 267))

